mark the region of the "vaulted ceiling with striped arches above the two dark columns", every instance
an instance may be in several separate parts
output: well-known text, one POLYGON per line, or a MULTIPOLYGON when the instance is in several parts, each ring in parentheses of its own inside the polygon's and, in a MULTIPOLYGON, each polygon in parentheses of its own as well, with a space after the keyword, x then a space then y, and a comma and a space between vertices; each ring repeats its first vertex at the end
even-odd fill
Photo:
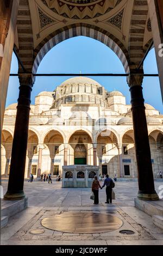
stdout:
POLYGON ((33 72, 52 47, 73 36, 108 45, 126 72, 139 66, 152 41, 143 0, 20 0, 16 35, 18 55, 33 72))

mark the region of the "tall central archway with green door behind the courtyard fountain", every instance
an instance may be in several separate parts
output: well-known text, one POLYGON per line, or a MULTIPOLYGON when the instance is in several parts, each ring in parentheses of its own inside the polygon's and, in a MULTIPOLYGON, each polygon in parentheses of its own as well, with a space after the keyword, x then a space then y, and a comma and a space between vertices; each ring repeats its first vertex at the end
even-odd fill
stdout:
POLYGON ((75 131, 68 144, 70 164, 93 164, 92 139, 87 132, 75 131))

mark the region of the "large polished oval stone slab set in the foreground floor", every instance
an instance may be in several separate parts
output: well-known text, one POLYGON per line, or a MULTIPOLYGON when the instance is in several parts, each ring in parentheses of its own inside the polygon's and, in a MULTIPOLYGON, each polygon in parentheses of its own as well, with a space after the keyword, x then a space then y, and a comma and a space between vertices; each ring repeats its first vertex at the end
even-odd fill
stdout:
POLYGON ((43 227, 66 233, 95 234, 105 233, 121 228, 120 218, 97 212, 64 212, 43 218, 43 227))

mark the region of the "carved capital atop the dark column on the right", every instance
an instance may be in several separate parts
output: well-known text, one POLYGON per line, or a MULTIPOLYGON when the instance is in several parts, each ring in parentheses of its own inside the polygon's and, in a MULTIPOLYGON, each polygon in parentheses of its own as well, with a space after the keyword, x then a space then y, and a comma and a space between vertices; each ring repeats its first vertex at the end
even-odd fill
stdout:
POLYGON ((141 86, 143 82, 143 70, 130 70, 130 75, 127 77, 129 87, 141 86))

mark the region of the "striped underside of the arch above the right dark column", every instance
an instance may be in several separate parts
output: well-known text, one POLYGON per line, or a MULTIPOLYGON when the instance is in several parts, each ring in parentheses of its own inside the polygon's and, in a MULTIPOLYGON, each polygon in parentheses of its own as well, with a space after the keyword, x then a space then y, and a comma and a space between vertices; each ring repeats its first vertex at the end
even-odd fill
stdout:
MULTIPOLYGON (((131 65, 137 68, 145 54, 148 45, 143 48, 144 34, 148 15, 147 0, 135 0, 131 17, 129 59, 131 65)), ((130 69, 132 68, 130 65, 130 69)))

